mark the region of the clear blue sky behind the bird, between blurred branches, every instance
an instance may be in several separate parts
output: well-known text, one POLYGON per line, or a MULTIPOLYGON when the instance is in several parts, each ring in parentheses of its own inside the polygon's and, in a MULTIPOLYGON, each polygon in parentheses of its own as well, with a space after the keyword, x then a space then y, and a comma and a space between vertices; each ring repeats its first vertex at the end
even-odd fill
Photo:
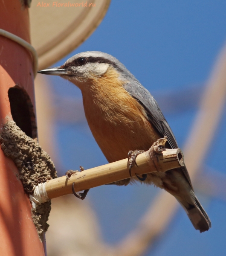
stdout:
MULTIPOLYGON (((189 88, 201 91, 226 41, 225 14, 226 1, 223 0, 112 0, 93 35, 54 66, 78 52, 102 51, 125 64, 156 99, 170 93, 183 94, 189 88)), ((81 98, 79 89, 72 84, 59 77, 51 79, 53 90, 59 96, 81 98)), ((197 104, 194 103, 193 108, 192 104, 191 99, 190 107, 183 111, 165 111, 180 147, 197 111, 197 104)), ((219 148, 222 149, 226 143, 225 130, 224 112, 215 136, 221 136, 219 148)), ((57 131, 62 175, 67 169, 78 169, 80 165, 87 169, 107 163, 87 124, 58 122, 57 131)), ((214 154, 214 160, 208 157, 205 165, 225 174, 220 157, 219 154, 214 154)), ((87 200, 96 210, 104 241, 115 244, 132 230, 158 191, 141 185, 101 186, 90 190, 87 200)), ((180 209, 162 239, 146 256, 226 255, 226 202, 197 196, 212 219, 212 229, 200 234, 180 209)))

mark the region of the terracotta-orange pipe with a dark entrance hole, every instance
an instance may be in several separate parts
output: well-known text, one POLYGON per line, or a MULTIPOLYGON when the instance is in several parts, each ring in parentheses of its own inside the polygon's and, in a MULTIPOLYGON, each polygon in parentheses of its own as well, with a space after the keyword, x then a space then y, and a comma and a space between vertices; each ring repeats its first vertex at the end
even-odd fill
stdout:
MULTIPOLYGON (((0 29, 30 43, 28 8, 23 1, 0 1, 0 29)), ((25 2, 25 1, 24 1, 25 2)), ((23 129, 36 137, 32 55, 20 44, 0 36, 0 128, 7 120, 23 122, 23 129), (15 87, 16 86, 16 87, 15 87), (12 89, 12 87, 14 87, 12 89), (8 91, 10 90, 11 102, 8 91), (20 101, 22 96, 23 100, 20 101), (17 101, 18 99, 18 101, 17 101), (23 102, 24 101, 24 102, 23 102), (24 103, 20 105, 20 103, 24 103), (11 113, 11 107, 13 115, 11 113), (27 107, 27 109, 26 109, 27 107), (27 110, 29 110, 27 112, 27 110), (17 112, 18 115, 17 116, 17 112), (32 113, 33 112, 33 113, 32 113), (15 121, 15 120, 14 120, 15 121)), ((0 252, 7 256, 45 255, 32 221, 31 203, 24 193, 18 171, 0 149, 0 252)))

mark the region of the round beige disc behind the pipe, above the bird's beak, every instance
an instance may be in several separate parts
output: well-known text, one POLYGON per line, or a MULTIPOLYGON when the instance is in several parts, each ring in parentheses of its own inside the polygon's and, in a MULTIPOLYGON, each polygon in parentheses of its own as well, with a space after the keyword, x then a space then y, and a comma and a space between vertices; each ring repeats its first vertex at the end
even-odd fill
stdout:
POLYGON ((51 66, 84 42, 101 23, 110 5, 110 0, 65 2, 32 0, 31 43, 38 53, 39 70, 51 66))

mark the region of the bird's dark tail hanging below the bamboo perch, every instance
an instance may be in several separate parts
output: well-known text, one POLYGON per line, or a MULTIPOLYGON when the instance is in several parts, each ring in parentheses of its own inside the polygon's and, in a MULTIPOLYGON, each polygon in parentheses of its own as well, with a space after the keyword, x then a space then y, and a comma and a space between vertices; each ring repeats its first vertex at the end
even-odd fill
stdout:
POLYGON ((195 196, 193 190, 190 191, 190 194, 191 198, 193 199, 192 203, 190 201, 188 204, 188 201, 183 201, 178 198, 177 200, 185 209, 185 212, 187 213, 188 218, 191 220, 194 228, 196 230, 200 230, 200 233, 205 232, 211 227, 211 221, 206 211, 198 201, 198 198, 195 196))

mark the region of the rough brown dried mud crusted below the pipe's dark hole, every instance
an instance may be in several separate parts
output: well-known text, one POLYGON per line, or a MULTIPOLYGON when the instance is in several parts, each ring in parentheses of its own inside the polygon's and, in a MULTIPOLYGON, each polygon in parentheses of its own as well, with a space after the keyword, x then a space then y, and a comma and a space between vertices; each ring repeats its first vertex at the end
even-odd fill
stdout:
MULTIPOLYGON (((6 157, 10 157, 17 166, 27 194, 32 194, 39 183, 57 177, 49 155, 35 140, 21 131, 15 122, 9 121, 1 128, 0 143, 6 157)), ((50 210, 51 201, 32 209, 32 218, 40 237, 49 227, 46 221, 50 210)))

